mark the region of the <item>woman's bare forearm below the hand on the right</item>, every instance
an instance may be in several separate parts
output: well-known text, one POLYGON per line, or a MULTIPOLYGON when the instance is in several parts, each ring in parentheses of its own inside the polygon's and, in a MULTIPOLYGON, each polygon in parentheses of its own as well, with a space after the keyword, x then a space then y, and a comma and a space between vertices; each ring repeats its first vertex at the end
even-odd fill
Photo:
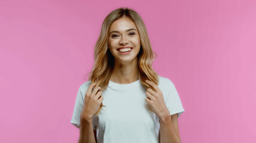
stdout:
POLYGON ((179 127, 177 122, 177 114, 170 116, 170 113, 165 116, 159 117, 160 130, 159 139, 160 143, 180 143, 179 127), (161 134, 160 134, 161 132, 161 134))

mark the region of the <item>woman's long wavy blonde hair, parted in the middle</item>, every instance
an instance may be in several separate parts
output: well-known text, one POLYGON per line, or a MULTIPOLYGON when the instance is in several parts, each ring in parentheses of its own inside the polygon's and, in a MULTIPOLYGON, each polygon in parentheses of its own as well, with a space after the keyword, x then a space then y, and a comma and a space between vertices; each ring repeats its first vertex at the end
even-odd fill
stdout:
MULTIPOLYGON (((146 80, 150 80, 156 85, 158 85, 159 79, 158 74, 152 69, 152 63, 155 58, 153 54, 157 54, 153 52, 149 36, 147 35, 146 26, 137 12, 131 10, 130 8, 118 8, 112 11, 107 17, 104 19, 100 37, 94 48, 94 67, 92 71, 88 74, 89 80, 92 82, 96 82, 96 86, 101 87, 101 91, 107 88, 109 85, 110 76, 112 74, 113 68, 115 66, 115 57, 110 52, 110 49, 107 48, 108 46, 108 38, 109 38, 109 29, 111 24, 122 17, 128 17, 132 20, 138 29, 138 34, 140 36, 140 52, 138 52, 138 70, 139 70, 139 77, 143 88, 146 90, 147 88, 151 88, 149 84, 146 83, 146 80)), ((87 75, 87 74, 86 74, 87 75)), ((100 113, 102 107, 106 107, 101 102, 100 108, 96 114, 100 113)), ((147 108, 152 111, 152 109, 147 105, 147 108)))

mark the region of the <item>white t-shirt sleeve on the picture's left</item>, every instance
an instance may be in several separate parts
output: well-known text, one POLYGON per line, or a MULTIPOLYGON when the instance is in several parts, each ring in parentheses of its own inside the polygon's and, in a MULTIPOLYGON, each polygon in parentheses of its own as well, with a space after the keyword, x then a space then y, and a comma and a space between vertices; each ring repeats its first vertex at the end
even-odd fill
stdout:
MULTIPOLYGON (((77 97, 76 97, 76 102, 74 105, 74 111, 73 111, 73 116, 72 119, 70 121, 70 123, 72 123, 74 126, 76 126, 77 128, 80 128, 80 115, 82 113, 83 110, 83 104, 85 102, 84 98, 85 98, 85 92, 86 90, 82 90, 84 85, 80 86, 78 92, 77 92, 77 97)), ((95 125, 94 120, 92 122, 92 126, 93 129, 96 130, 97 125, 95 125)))

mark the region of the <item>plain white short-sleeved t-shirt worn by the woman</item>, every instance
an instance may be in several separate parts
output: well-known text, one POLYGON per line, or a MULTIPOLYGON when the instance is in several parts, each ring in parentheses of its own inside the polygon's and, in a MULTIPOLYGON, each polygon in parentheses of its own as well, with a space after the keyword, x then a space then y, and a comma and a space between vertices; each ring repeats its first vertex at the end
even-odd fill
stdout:
MULTIPOLYGON (((184 112, 179 95, 170 79, 159 77, 158 88, 162 91, 165 105, 170 115, 184 112)), ((71 123, 79 128, 85 92, 91 81, 83 83, 76 97, 71 123)), ((146 108, 146 90, 140 79, 128 84, 109 81, 102 92, 104 97, 100 113, 92 119, 93 129, 97 130, 98 143, 156 143, 160 129, 159 117, 146 108)))

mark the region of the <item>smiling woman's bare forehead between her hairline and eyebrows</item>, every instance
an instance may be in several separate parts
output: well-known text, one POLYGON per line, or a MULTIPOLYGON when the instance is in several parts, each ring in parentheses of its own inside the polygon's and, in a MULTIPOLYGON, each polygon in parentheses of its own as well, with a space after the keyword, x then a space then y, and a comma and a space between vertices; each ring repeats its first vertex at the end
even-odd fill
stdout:
POLYGON ((137 27, 135 25, 135 23, 130 20, 129 18, 127 17, 122 17, 122 18, 119 18, 118 20, 116 20, 115 22, 112 23, 112 25, 110 26, 110 32, 112 30, 118 30, 118 31, 124 31, 127 30, 127 29, 136 29, 137 30, 137 27))

